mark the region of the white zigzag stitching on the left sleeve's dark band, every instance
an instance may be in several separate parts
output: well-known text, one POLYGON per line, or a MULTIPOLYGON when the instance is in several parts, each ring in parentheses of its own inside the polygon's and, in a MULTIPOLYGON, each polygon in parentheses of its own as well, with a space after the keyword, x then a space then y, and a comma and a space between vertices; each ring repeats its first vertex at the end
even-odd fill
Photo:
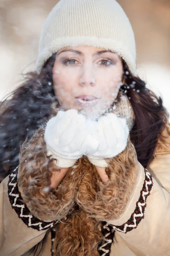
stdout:
MULTIPOLYGON (((17 169, 17 168, 16 168, 16 169, 17 169)), ((16 170, 16 169, 15 169, 15 170, 16 170)), ((14 170, 14 171, 15 171, 15 170, 14 170)), ((32 223, 31 223, 31 218, 33 218, 33 215, 31 215, 31 214, 29 214, 29 215, 23 215, 23 209, 25 208, 24 204, 21 204, 21 205, 16 204, 17 198, 18 198, 20 195, 19 195, 19 194, 13 194, 13 190, 14 190, 14 188, 17 186, 17 183, 12 183, 12 182, 13 182, 14 178, 15 178, 17 175, 16 175, 16 174, 11 174, 10 176, 12 177, 12 180, 11 180, 11 182, 9 182, 9 185, 12 186, 12 189, 11 189, 11 192, 9 193, 9 195, 11 195, 11 196, 14 197, 14 203, 12 204, 12 206, 21 208, 21 209, 20 209, 20 210, 21 210, 20 217, 28 218, 28 226, 29 226, 29 227, 31 227, 31 226, 39 226, 39 230, 43 230, 43 229, 45 229, 45 228, 47 228, 47 227, 49 227, 49 228, 53 227, 54 224, 57 223, 57 221, 55 221, 55 223, 51 223, 51 224, 46 225, 45 227, 42 227, 42 223, 43 223, 43 222, 41 222, 41 221, 40 221, 40 222, 37 222, 37 223, 35 223, 35 224, 32 224, 32 223)))

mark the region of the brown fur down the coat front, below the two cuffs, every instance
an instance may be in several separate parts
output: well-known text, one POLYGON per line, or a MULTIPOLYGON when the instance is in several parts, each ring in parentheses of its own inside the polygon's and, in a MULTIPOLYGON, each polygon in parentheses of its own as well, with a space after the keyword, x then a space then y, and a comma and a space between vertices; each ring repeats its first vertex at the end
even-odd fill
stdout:
POLYGON ((101 239, 101 223, 77 206, 67 220, 56 226, 54 256, 99 256, 97 247, 101 239))

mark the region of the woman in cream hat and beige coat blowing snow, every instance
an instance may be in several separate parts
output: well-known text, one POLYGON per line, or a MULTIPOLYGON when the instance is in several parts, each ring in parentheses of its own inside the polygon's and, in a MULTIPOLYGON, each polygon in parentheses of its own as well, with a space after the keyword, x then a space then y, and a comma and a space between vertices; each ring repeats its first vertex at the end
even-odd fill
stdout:
POLYGON ((170 128, 114 0, 61 0, 1 104, 0 255, 170 253, 170 128), (7 176, 7 177, 6 177, 7 176))

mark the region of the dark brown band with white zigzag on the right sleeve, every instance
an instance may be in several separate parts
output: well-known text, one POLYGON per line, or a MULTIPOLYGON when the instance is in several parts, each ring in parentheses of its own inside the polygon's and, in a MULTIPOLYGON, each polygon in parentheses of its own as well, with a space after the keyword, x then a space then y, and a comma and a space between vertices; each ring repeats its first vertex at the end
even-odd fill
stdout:
POLYGON ((137 201, 136 203, 136 208, 133 214, 131 215, 130 219, 126 223, 122 224, 121 226, 114 226, 110 224, 111 227, 113 227, 113 229, 120 231, 122 233, 127 233, 133 230, 134 228, 136 228, 140 223, 140 221, 142 220, 142 218, 144 218, 144 209, 146 207, 146 200, 148 195, 150 195, 150 190, 152 189, 152 186, 153 186, 152 176, 147 171, 147 169, 144 169, 144 172, 145 172, 144 185, 140 193, 139 201, 137 201))

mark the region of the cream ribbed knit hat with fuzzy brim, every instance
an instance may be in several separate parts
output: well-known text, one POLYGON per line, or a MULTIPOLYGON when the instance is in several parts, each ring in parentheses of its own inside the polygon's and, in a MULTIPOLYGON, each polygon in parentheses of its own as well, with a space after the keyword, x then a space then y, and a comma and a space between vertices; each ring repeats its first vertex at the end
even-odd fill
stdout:
POLYGON ((117 52, 136 73, 135 38, 130 22, 115 0, 60 0, 43 26, 36 62, 45 61, 63 47, 94 46, 117 52))

